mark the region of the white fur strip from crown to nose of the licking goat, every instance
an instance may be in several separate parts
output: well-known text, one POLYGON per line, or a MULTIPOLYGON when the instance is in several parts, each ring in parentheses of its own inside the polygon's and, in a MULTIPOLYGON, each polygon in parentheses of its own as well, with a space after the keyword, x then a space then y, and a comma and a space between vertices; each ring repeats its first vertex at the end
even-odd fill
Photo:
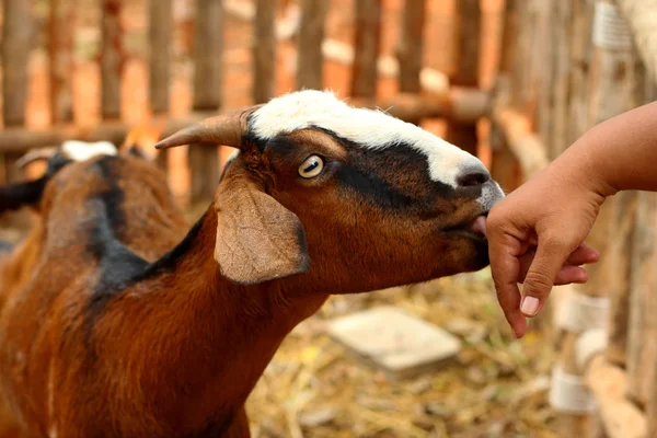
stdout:
POLYGON ((311 127, 332 131, 362 148, 413 148, 427 157, 430 178, 451 187, 458 186, 464 170, 487 172, 476 157, 431 132, 382 111, 351 107, 328 91, 303 90, 275 97, 250 120, 250 130, 263 140, 311 127))

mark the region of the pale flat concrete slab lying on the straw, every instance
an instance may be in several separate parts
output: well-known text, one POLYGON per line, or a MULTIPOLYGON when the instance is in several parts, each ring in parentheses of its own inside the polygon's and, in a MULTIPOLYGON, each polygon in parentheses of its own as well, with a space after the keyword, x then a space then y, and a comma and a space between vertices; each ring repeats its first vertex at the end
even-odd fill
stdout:
POLYGON ((449 364, 461 341, 393 307, 379 307, 327 324, 328 335, 392 379, 435 371, 449 364))

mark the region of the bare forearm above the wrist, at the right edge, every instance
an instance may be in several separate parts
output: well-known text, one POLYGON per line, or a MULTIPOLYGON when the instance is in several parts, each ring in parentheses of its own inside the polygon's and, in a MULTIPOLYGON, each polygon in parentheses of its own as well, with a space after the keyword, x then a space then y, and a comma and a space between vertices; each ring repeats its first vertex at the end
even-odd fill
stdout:
POLYGON ((603 196, 657 191, 657 102, 597 125, 554 164, 603 196))

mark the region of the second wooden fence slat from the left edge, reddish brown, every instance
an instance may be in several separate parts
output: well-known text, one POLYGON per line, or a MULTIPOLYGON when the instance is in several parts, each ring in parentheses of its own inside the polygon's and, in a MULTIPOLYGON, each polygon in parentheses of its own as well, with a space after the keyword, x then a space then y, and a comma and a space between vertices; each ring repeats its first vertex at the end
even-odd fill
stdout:
POLYGON ((48 61, 53 124, 73 119, 73 23, 74 0, 50 0, 48 61))

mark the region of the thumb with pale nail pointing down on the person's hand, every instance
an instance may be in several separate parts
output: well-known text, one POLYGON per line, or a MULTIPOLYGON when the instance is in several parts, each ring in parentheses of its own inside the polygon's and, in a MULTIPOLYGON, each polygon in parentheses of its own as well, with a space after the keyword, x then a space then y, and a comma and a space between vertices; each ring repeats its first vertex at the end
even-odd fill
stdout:
POLYGON ((526 316, 535 316, 542 309, 560 269, 573 251, 570 246, 576 245, 564 239, 539 237, 537 254, 527 272, 520 301, 520 311, 526 316))

